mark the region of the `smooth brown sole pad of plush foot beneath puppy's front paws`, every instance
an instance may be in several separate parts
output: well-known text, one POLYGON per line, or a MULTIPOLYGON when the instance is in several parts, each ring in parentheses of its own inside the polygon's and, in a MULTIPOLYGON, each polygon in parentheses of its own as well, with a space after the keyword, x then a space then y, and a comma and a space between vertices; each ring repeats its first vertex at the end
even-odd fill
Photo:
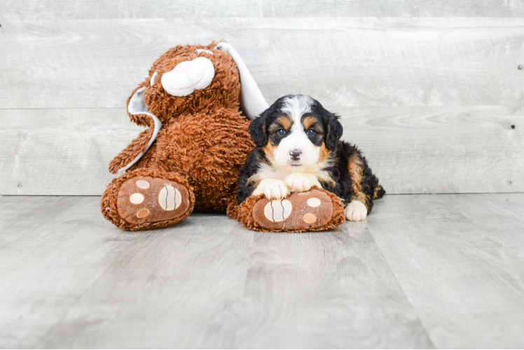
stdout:
POLYGON ((262 198, 253 207, 253 218, 271 230, 315 230, 333 216, 333 202, 319 190, 292 193, 284 200, 262 198))

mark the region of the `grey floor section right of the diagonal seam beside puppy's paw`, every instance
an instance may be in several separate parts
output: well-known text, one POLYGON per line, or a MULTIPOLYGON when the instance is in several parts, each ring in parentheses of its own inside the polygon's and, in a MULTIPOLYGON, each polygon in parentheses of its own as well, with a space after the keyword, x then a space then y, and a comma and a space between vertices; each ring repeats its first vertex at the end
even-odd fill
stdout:
POLYGON ((389 196, 370 216, 437 348, 524 346, 523 207, 524 195, 389 196))

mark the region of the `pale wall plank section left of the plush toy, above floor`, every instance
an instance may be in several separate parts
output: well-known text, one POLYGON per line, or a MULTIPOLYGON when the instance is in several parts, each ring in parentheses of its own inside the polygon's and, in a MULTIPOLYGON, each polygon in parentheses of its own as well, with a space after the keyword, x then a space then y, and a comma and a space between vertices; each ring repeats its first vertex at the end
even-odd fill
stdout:
POLYGON ((125 109, 0 109, 0 194, 101 195, 142 130, 125 109))

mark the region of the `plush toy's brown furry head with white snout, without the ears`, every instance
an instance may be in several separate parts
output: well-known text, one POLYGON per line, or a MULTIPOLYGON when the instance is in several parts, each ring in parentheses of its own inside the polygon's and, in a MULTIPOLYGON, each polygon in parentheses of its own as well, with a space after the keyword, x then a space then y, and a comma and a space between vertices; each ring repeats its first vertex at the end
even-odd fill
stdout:
POLYGON ((213 107, 238 108, 240 77, 235 61, 210 45, 179 45, 149 69, 144 102, 162 122, 213 107))

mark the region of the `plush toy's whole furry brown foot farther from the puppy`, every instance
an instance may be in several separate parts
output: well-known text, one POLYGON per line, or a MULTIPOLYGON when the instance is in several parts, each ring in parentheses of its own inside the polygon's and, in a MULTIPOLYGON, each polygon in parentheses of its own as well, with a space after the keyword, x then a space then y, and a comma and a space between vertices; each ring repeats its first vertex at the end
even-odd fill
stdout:
POLYGON ((100 206, 105 218, 124 230, 174 225, 193 211, 193 188, 183 176, 155 169, 135 169, 113 179, 100 206))

